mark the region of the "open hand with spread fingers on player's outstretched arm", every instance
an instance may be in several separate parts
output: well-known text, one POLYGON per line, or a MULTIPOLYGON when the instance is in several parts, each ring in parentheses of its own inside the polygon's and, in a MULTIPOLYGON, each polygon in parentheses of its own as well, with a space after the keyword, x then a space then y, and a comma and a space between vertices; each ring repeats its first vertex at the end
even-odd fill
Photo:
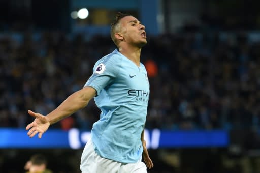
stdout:
POLYGON ((28 113, 30 114, 30 116, 35 117, 35 120, 32 123, 28 124, 25 128, 26 130, 29 130, 27 135, 32 138, 37 133, 39 133, 38 137, 42 138, 43 133, 46 132, 49 128, 50 122, 48 121, 47 117, 43 116, 40 113, 35 113, 31 110, 28 110, 28 113))

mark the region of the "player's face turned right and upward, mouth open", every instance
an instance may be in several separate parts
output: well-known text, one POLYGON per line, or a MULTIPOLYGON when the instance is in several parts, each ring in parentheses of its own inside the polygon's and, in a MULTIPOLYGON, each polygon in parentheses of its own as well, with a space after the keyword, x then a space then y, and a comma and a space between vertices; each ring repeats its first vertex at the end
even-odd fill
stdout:
POLYGON ((133 16, 121 19, 121 32, 125 41, 129 44, 143 47, 146 43, 145 26, 133 16))

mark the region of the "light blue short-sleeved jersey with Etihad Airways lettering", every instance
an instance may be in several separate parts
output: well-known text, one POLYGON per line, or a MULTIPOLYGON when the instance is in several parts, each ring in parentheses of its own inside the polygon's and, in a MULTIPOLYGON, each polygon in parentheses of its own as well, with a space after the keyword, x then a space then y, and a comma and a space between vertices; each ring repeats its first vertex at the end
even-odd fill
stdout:
POLYGON ((91 130, 95 151, 107 159, 136 163, 143 152, 149 99, 144 65, 138 67, 116 49, 96 62, 85 86, 96 90, 94 100, 102 111, 91 130))

